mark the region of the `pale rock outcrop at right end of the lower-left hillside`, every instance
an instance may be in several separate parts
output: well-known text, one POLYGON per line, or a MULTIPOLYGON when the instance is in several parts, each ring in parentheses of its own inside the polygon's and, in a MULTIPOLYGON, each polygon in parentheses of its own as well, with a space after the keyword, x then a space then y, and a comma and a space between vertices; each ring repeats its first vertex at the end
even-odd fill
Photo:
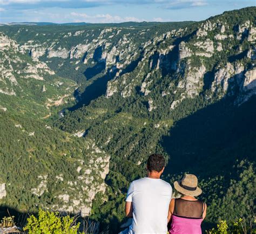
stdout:
POLYGON ((89 164, 84 164, 80 161, 80 166, 77 168, 79 176, 75 181, 69 181, 65 194, 58 195, 63 205, 53 205, 53 208, 59 211, 80 213, 82 217, 90 215, 92 201, 98 192, 105 193, 106 184, 104 179, 109 173, 110 156, 105 155, 101 150, 97 150, 95 144, 90 146, 96 148, 96 151, 104 156, 91 157, 89 164), (83 171, 83 173, 82 173, 83 171), (92 176, 95 175, 95 176, 92 176), (76 197, 73 195, 73 190, 80 190, 76 197), (69 192, 70 191, 70 192, 69 192))

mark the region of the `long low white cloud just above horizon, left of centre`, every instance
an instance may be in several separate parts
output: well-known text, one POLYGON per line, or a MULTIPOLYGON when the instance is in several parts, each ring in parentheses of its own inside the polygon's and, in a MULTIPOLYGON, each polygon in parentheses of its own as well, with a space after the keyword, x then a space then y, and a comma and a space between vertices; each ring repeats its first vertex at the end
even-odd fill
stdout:
POLYGON ((77 13, 71 12, 71 16, 75 17, 73 19, 75 22, 88 22, 88 23, 121 23, 127 21, 142 22, 142 19, 136 17, 121 17, 121 16, 112 16, 110 14, 96 14, 96 15, 87 15, 86 13, 77 13))

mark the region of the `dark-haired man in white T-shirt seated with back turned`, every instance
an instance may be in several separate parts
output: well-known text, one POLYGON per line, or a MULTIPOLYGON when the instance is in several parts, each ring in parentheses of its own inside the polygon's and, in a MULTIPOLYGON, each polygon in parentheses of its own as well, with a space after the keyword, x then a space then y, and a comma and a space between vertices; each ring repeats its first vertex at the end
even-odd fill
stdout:
POLYGON ((131 183, 125 200, 126 216, 133 217, 129 234, 166 234, 172 187, 160 179, 164 167, 164 157, 152 154, 147 160, 147 177, 131 183))

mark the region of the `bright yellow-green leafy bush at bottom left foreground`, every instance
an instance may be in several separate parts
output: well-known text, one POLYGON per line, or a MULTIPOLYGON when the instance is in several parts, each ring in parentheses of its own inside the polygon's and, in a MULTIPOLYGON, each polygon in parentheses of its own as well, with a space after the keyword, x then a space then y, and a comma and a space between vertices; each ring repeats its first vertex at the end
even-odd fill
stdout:
POLYGON ((61 217, 58 212, 39 209, 38 217, 31 215, 24 230, 36 234, 77 234, 80 223, 75 222, 70 216, 61 217))

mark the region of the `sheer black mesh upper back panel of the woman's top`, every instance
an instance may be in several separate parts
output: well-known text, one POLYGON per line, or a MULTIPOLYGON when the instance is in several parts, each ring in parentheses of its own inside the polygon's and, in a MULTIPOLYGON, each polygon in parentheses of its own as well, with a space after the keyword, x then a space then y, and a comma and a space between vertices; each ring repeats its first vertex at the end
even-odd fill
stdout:
POLYGON ((188 201, 182 198, 177 198, 174 200, 174 211, 173 215, 186 217, 186 218, 202 218, 205 203, 199 200, 188 201))

